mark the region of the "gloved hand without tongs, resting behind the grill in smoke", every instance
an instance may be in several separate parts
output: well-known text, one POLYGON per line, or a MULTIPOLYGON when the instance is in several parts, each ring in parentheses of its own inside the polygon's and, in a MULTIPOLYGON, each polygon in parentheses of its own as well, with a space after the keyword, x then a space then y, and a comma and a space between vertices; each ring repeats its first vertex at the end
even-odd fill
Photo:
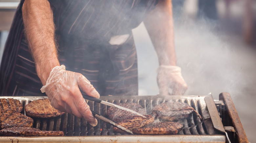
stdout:
POLYGON ((187 84, 181 76, 181 68, 160 65, 157 69, 157 82, 160 95, 183 95, 187 84), (169 90, 172 89, 170 93, 169 90))

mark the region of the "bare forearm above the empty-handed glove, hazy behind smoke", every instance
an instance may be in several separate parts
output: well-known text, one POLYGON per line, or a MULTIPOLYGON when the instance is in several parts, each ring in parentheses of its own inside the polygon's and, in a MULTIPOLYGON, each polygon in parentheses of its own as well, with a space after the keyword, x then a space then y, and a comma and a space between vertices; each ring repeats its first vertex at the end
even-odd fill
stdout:
POLYGON ((171 0, 159 1, 144 24, 157 52, 159 64, 176 66, 171 0))

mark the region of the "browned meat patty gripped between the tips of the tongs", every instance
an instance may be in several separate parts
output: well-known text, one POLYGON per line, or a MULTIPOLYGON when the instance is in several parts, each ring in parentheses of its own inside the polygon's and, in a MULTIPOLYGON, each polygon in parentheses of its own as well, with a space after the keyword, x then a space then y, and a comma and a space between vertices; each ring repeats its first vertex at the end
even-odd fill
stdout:
MULTIPOLYGON (((141 117, 139 115, 130 116, 130 117, 127 117, 126 119, 123 119, 117 122, 117 124, 132 131, 132 129, 134 128, 142 128, 145 125, 152 123, 154 121, 153 116, 151 115, 144 115, 144 116, 146 116, 147 118, 141 117)), ((118 133, 126 133, 125 131, 118 129, 117 127, 114 127, 113 131, 118 133)))

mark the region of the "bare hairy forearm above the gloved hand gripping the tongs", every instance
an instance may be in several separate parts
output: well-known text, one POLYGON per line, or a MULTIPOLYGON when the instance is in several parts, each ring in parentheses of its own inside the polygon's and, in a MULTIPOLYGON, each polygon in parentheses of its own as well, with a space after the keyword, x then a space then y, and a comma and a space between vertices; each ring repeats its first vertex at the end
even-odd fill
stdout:
POLYGON ((53 67, 59 66, 53 12, 47 0, 25 0, 22 16, 37 74, 45 85, 53 67))

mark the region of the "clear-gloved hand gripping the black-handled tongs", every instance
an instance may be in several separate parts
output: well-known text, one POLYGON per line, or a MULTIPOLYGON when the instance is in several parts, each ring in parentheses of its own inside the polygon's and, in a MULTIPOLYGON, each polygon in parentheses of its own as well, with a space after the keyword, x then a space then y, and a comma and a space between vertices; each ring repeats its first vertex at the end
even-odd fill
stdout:
POLYGON ((84 118, 92 126, 96 126, 97 120, 82 97, 79 87, 87 95, 99 98, 99 93, 81 73, 66 71, 66 67, 61 65, 52 69, 41 91, 46 93, 54 108, 84 118))

